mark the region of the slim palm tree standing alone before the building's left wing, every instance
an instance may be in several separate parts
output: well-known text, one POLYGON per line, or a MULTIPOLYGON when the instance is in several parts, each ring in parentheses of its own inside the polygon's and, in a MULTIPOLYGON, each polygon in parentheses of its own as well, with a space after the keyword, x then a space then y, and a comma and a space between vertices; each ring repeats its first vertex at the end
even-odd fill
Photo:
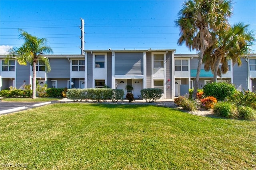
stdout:
POLYGON ((44 57, 44 54, 53 53, 52 49, 46 45, 47 39, 32 36, 22 29, 19 39, 24 39, 24 44, 20 47, 14 47, 8 51, 6 60, 16 58, 20 65, 27 63, 32 65, 33 78, 32 78, 32 98, 36 98, 36 64, 40 60, 45 64, 46 72, 51 70, 49 59, 44 57))

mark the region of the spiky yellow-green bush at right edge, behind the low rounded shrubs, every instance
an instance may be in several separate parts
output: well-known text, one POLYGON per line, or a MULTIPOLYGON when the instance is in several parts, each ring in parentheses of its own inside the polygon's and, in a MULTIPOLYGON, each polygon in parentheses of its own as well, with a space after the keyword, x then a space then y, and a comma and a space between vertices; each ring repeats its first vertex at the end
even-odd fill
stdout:
POLYGON ((256 109, 256 94, 254 92, 236 91, 232 96, 228 98, 228 101, 236 104, 236 106, 248 106, 256 109))

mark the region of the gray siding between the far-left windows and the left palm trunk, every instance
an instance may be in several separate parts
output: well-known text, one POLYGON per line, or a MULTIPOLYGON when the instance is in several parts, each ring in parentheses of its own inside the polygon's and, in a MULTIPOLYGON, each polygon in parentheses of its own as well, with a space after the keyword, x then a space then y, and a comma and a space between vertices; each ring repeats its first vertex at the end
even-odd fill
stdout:
POLYGON ((17 63, 16 69, 16 88, 23 88, 24 84, 29 84, 30 64, 24 66, 17 63))

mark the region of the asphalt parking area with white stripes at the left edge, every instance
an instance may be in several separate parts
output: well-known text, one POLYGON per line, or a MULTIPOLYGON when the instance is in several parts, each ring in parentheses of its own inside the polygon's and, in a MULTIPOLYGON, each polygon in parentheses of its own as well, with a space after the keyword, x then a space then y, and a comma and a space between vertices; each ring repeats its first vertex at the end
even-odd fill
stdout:
POLYGON ((56 102, 57 101, 26 103, 26 102, 2 102, 1 101, 0 102, 0 115, 13 113, 13 112, 24 110, 24 109, 30 109, 33 107, 43 106, 46 104, 52 104, 52 103, 56 103, 56 102))

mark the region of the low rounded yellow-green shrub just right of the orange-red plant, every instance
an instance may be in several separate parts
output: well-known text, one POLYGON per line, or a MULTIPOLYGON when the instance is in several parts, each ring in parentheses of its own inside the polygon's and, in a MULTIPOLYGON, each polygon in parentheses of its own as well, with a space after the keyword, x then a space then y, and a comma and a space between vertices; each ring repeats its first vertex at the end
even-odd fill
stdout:
POLYGON ((213 113, 217 116, 223 116, 228 118, 238 118, 238 110, 234 104, 228 102, 218 102, 213 107, 213 113))

